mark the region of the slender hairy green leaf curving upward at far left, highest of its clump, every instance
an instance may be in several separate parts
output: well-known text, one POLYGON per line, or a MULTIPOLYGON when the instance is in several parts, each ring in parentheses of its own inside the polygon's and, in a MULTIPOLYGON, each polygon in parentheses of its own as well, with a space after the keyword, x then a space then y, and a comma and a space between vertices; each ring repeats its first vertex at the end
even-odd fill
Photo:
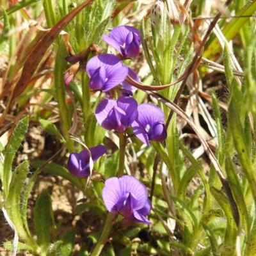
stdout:
POLYGON ((6 153, 4 156, 4 177, 3 177, 3 187, 4 187, 4 197, 7 198, 9 193, 9 185, 12 179, 12 162, 15 154, 20 147, 20 143, 24 139, 25 133, 28 130, 29 117, 26 116, 19 121, 16 125, 10 141, 6 147, 6 153))

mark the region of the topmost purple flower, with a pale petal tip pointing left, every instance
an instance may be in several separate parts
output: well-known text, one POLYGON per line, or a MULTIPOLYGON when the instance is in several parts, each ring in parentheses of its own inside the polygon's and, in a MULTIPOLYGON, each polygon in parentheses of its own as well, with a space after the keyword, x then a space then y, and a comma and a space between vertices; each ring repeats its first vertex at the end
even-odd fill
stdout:
POLYGON ((140 53, 140 31, 131 26, 113 28, 103 40, 114 47, 124 58, 135 58, 140 53))

